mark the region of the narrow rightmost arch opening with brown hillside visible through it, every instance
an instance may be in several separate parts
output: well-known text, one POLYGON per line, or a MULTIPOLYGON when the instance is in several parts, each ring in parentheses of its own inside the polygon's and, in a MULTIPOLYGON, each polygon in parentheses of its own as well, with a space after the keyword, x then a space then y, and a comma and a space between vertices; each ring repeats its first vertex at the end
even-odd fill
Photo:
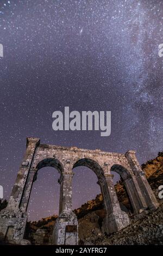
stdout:
POLYGON ((114 175, 113 181, 121 210, 127 212, 129 216, 133 215, 133 206, 131 204, 127 188, 123 182, 125 179, 130 177, 128 170, 120 164, 114 164, 111 167, 110 172, 114 175))

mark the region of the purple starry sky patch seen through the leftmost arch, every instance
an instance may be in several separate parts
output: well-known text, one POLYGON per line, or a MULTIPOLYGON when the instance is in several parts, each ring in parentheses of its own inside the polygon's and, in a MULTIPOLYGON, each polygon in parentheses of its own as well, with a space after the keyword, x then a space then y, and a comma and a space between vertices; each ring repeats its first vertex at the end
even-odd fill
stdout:
POLYGON ((59 178, 60 173, 54 167, 43 167, 38 171, 29 198, 28 221, 59 214, 59 178))

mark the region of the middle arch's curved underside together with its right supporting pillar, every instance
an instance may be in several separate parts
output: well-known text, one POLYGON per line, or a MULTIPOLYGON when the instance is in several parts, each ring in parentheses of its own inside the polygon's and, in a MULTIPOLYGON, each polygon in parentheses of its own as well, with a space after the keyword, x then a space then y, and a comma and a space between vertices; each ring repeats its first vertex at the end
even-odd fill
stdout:
POLYGON ((121 211, 120 204, 114 189, 112 175, 106 174, 104 169, 95 160, 84 158, 78 159, 73 168, 77 166, 86 166, 95 172, 98 178, 97 184, 101 188, 101 193, 104 200, 104 207, 106 216, 103 220, 102 230, 105 233, 112 233, 113 230, 119 230, 126 227, 129 223, 128 216, 125 212, 121 211))

